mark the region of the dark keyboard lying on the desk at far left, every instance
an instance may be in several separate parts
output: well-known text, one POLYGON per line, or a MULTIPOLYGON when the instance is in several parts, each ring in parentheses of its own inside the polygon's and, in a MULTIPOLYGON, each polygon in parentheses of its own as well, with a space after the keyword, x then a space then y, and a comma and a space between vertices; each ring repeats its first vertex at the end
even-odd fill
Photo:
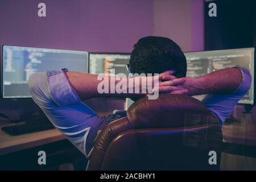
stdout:
POLYGON ((48 119, 44 121, 35 121, 35 122, 25 122, 23 124, 5 126, 2 127, 2 130, 10 135, 22 135, 28 133, 34 133, 37 131, 44 131, 54 129, 55 127, 52 125, 48 119))

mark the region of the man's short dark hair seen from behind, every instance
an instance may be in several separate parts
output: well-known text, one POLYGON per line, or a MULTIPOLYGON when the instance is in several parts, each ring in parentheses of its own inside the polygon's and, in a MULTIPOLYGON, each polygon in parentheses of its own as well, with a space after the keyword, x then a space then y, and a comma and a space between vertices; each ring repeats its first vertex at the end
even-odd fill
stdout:
POLYGON ((162 73, 175 70, 176 77, 185 77, 187 60, 181 48, 171 39, 147 36, 134 45, 130 58, 131 73, 162 73))

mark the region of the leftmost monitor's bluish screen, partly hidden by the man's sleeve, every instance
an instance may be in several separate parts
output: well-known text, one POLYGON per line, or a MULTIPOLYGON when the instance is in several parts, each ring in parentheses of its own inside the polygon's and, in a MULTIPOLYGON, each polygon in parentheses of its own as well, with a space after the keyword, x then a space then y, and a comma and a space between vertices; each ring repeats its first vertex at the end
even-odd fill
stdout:
POLYGON ((88 52, 61 49, 3 46, 3 98, 31 97, 28 78, 34 72, 68 68, 88 73, 88 52))

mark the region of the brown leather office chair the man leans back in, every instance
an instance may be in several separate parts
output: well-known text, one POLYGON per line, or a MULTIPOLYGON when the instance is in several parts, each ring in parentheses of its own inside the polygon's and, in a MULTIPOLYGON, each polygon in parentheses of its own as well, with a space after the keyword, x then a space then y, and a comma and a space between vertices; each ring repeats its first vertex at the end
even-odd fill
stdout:
POLYGON ((88 170, 219 169, 221 143, 218 119, 195 98, 144 97, 101 131, 88 170), (209 151, 217 152, 216 165, 209 151))

